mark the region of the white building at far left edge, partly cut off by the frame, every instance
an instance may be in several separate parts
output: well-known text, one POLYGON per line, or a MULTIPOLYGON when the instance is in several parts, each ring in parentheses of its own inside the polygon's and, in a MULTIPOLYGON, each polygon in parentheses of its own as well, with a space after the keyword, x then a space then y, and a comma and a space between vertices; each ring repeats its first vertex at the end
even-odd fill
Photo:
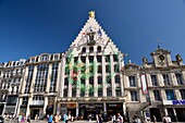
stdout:
POLYGON ((24 77, 24 59, 0 64, 0 114, 17 113, 18 95, 24 77))

